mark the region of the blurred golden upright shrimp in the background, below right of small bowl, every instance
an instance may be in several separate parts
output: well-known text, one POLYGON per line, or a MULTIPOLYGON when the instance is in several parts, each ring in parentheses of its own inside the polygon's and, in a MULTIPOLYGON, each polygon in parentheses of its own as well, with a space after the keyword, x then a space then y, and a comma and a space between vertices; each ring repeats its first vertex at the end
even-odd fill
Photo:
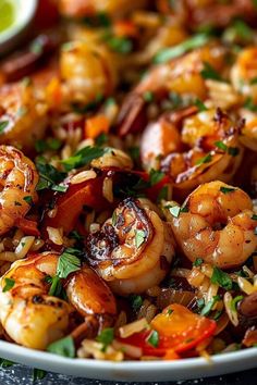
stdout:
POLYGON ((103 45, 73 41, 61 52, 60 71, 64 100, 90 102, 109 95, 115 85, 111 53, 103 45))

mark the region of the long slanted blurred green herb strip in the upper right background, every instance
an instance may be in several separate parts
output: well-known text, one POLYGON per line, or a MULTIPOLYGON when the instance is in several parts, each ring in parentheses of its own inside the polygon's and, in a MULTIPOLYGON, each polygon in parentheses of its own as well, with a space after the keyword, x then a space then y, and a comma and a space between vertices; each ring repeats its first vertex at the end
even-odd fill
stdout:
POLYGON ((154 58, 155 63, 164 63, 171 59, 181 57, 182 54, 205 46, 209 41, 208 34, 197 34, 192 38, 188 38, 181 44, 160 50, 154 58))

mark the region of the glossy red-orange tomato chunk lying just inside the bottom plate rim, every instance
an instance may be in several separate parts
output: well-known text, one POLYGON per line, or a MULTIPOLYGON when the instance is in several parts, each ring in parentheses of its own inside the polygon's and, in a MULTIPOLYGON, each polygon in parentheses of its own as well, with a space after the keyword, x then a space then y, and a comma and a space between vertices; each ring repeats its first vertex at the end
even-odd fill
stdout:
POLYGON ((161 314, 156 315, 150 326, 159 335, 156 347, 149 343, 152 330, 135 333, 121 341, 140 347, 146 356, 169 359, 192 350, 216 331, 215 321, 195 314, 179 303, 170 305, 161 314))

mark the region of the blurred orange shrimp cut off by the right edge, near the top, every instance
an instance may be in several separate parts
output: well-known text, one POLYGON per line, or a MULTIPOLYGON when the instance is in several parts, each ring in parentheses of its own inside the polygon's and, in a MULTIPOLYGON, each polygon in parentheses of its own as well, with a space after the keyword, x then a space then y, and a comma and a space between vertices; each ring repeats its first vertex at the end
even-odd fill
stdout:
POLYGON ((231 82, 236 91, 257 102, 257 48, 245 48, 231 69, 231 82))

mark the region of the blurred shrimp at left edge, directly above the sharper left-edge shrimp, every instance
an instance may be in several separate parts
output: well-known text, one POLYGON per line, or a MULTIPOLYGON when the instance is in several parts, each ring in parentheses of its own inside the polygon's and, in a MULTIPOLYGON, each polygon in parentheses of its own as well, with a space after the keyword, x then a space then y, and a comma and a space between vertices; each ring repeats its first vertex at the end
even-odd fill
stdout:
POLYGON ((0 144, 34 149, 48 124, 47 104, 40 101, 33 84, 25 82, 0 89, 0 144))

